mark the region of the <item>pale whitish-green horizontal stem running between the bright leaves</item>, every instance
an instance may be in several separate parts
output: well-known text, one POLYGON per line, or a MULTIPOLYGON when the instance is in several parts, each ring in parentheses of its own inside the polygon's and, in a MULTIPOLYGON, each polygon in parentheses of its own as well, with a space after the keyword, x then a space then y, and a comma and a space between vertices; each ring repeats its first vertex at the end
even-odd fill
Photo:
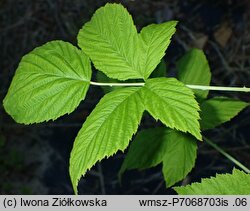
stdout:
MULTIPOLYGON (((145 83, 101 83, 90 81, 91 85, 94 86, 144 86, 145 83)), ((214 90, 214 91, 235 91, 235 92, 250 92, 250 88, 247 87, 224 87, 224 86, 202 86, 202 85, 191 85, 186 84, 191 89, 200 90, 214 90)))

